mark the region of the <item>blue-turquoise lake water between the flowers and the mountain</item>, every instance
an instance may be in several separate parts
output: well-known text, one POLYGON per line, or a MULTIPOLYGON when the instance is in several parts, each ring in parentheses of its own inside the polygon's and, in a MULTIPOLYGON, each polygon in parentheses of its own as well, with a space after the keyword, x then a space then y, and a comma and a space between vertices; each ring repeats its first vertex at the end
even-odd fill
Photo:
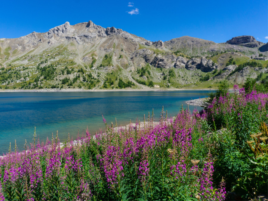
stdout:
MULTIPOLYGON (((162 106, 168 116, 176 115, 185 101, 205 97, 211 91, 113 91, 113 92, 2 92, 0 93, 0 154, 11 148, 15 139, 20 150, 25 139, 32 142, 34 127, 40 141, 58 135, 64 142, 88 127, 93 135, 104 128, 102 115, 107 123, 118 126, 143 121, 154 109, 159 119, 162 106)), ((193 111, 201 107, 189 105, 193 111)))

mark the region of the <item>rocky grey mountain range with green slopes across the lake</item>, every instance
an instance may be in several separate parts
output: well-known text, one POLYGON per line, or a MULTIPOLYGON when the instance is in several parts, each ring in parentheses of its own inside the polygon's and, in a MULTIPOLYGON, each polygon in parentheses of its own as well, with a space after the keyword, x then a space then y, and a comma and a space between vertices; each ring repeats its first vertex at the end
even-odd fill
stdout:
POLYGON ((45 33, 1 38, 0 87, 212 87, 225 78, 266 76, 267 53, 267 44, 253 36, 226 43, 189 36, 152 42, 92 21, 66 22, 45 33), (237 70, 239 64, 245 69, 237 70))

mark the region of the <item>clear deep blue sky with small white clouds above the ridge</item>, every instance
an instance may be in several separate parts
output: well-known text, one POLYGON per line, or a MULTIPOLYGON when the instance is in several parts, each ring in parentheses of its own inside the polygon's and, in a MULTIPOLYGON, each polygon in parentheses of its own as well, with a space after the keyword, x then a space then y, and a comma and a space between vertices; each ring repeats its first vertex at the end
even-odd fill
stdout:
POLYGON ((18 38, 33 31, 92 20, 147 40, 170 40, 188 35, 226 42, 252 35, 268 42, 267 0, 225 1, 1 1, 0 38, 18 38))

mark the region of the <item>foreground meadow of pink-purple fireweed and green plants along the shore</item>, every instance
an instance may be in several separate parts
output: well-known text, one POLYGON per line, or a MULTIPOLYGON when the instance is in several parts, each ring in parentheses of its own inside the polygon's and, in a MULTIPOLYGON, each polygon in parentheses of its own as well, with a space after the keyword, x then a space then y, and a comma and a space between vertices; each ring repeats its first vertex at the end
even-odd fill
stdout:
POLYGON ((0 200, 255 199, 267 194, 267 111, 267 93, 235 85, 202 111, 124 128, 103 118, 105 131, 63 147, 34 135, 1 158, 0 200))

